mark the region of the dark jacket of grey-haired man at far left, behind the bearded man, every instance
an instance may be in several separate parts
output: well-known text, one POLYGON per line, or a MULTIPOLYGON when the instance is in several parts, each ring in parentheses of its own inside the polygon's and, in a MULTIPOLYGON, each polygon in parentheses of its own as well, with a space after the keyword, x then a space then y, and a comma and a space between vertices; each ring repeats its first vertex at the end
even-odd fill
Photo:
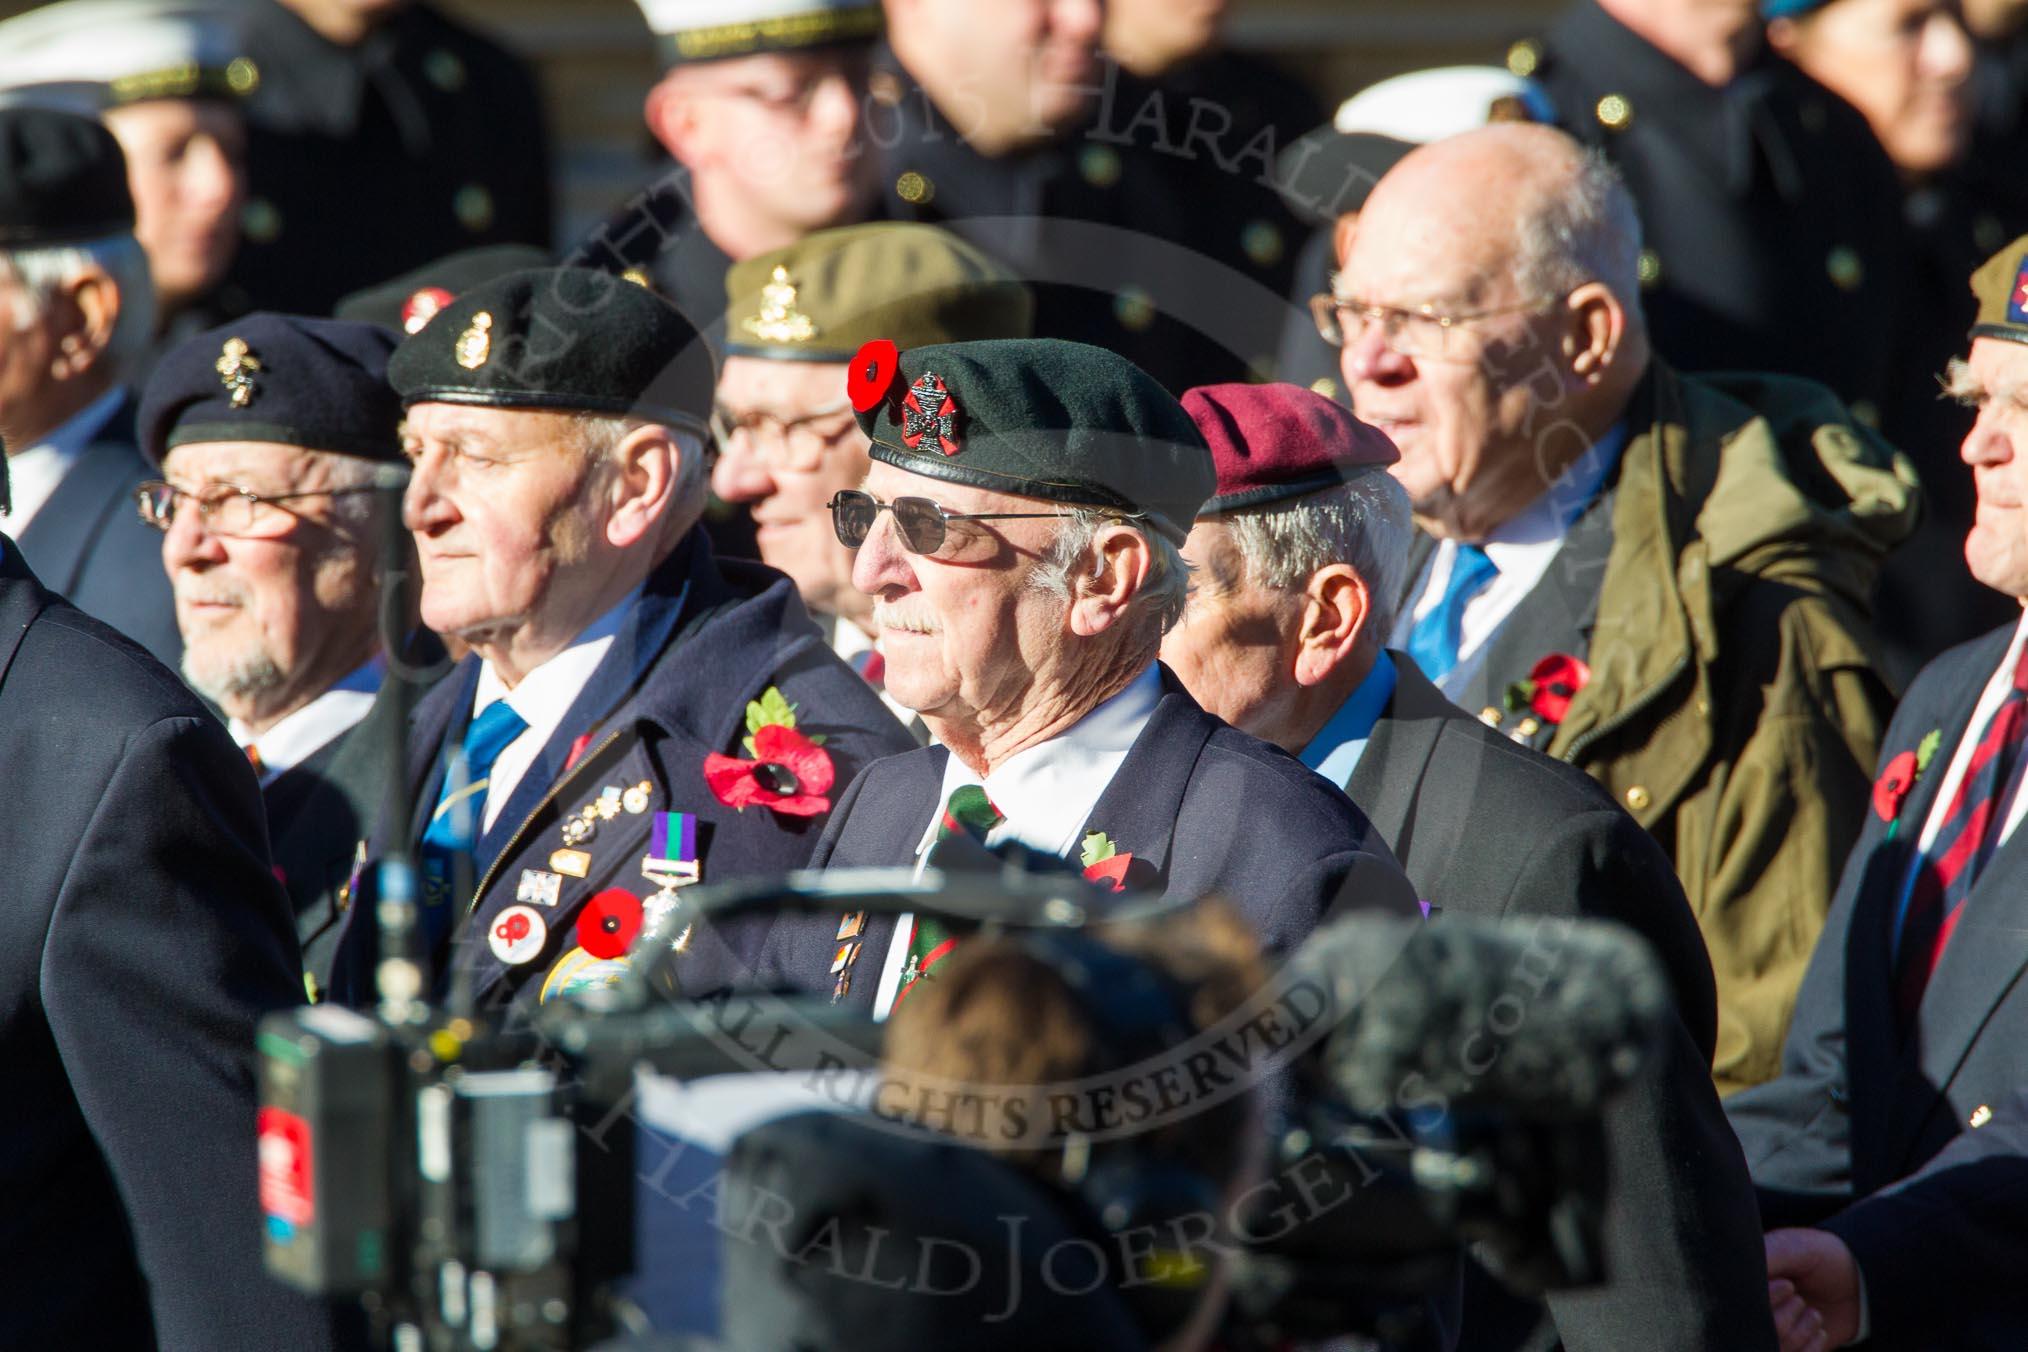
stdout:
POLYGON ((128 397, 20 533, 20 553, 51 592, 105 620, 170 671, 183 661, 162 535, 140 523, 134 489, 154 470, 134 448, 128 397))

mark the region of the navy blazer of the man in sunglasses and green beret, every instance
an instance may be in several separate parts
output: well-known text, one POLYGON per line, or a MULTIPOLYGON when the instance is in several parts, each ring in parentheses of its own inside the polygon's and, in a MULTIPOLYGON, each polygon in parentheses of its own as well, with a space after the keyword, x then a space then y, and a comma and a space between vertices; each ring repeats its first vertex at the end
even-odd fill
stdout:
MULTIPOLYGON (((943 746, 870 766, 838 803, 811 868, 902 868, 939 807, 943 746)), ((1288 752, 1205 713, 1164 667, 1162 699, 1099 795, 1085 831, 1105 831, 1152 868, 1162 896, 1219 894, 1237 904, 1274 953, 1300 945, 1336 910, 1420 916, 1393 851, 1338 793, 1288 752)), ((872 1007, 892 916, 872 916, 846 1003, 872 1007)), ((783 920, 763 971, 829 995, 834 924, 783 920)))

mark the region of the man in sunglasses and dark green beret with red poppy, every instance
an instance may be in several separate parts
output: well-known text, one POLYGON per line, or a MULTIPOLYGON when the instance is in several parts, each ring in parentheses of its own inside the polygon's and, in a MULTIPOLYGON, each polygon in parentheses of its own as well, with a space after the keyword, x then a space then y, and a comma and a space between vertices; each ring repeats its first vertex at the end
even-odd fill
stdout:
MULTIPOLYGON (((874 464, 831 499, 838 539, 874 598, 888 693, 941 746, 870 766, 813 866, 909 866, 963 829, 1115 888, 1219 892, 1282 949, 1338 902, 1418 914, 1343 793, 1156 663, 1188 590, 1178 545, 1215 486, 1168 391, 1057 339, 870 343, 848 375, 874 464)), ((951 945, 931 918, 846 916, 840 943, 771 936, 769 961, 884 1013, 951 945)))

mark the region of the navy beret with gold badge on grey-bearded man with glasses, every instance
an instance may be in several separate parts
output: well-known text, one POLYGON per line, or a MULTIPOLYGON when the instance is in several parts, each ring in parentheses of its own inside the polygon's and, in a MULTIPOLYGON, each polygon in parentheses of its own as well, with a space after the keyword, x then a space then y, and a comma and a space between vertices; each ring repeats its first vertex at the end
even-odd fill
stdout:
POLYGON ((393 345, 377 324, 298 314, 247 314, 187 339, 142 391, 142 454, 160 466, 191 442, 280 442, 400 460, 393 345))

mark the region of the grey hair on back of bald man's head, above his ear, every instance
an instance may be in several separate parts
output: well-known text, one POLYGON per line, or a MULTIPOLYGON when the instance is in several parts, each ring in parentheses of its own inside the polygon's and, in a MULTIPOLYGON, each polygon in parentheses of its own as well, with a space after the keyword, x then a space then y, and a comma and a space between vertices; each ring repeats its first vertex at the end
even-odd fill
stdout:
POLYGON ((1531 300, 1553 300, 1604 282, 1628 310, 1641 304, 1641 215, 1598 150, 1586 150, 1562 193, 1517 225, 1515 282, 1531 300))

